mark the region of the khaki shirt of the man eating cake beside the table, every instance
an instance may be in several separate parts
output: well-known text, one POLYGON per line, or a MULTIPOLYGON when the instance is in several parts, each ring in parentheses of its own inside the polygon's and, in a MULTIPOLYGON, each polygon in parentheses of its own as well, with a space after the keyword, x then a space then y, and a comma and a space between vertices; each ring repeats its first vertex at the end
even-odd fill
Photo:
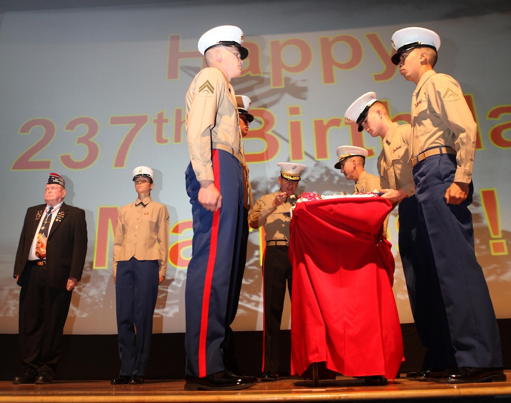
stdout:
POLYGON ((284 215, 291 210, 291 203, 286 200, 277 207, 272 207, 271 202, 280 191, 265 194, 255 202, 254 208, 248 213, 248 225, 254 229, 264 227, 265 241, 287 240, 289 241, 289 223, 291 217, 284 215))

